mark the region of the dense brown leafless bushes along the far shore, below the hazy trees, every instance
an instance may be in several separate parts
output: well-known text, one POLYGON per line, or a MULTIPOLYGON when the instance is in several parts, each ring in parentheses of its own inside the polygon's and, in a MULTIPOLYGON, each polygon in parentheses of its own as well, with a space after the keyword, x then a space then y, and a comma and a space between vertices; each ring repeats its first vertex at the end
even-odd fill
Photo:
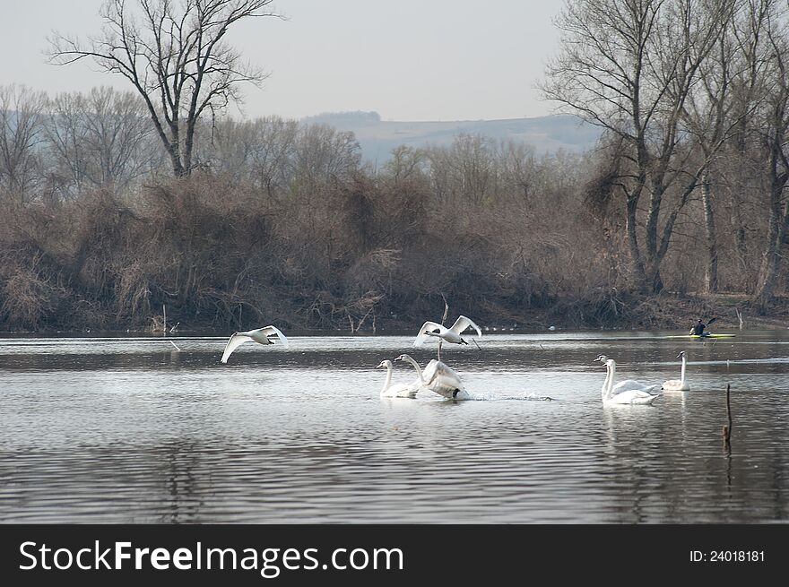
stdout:
POLYGON ((0 330, 408 331, 440 319, 445 304, 507 330, 686 330, 712 315, 718 329, 740 318, 745 328, 789 326, 780 295, 765 307, 742 291, 689 293, 699 285, 688 282, 691 255, 663 272, 674 291, 629 288, 621 251, 606 245, 583 194, 559 181, 555 161, 543 165, 556 177, 527 201, 461 205, 424 178, 359 174, 275 196, 193 175, 134 194, 11 202, 0 330))

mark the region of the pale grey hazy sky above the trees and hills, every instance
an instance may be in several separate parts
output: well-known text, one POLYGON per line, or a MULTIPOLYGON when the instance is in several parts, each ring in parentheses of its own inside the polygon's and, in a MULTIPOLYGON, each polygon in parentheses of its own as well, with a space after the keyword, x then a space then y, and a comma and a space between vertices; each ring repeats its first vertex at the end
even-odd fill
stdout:
MULTIPOLYGON (((0 84, 87 91, 131 86, 88 62, 48 65, 52 30, 97 33, 101 0, 0 0, 0 84), (92 69, 95 69, 93 67, 92 69)), ((476 120, 551 113, 534 83, 556 50, 557 0, 275 0, 273 18, 229 40, 270 73, 247 85, 244 116, 375 110, 384 120, 476 120)))

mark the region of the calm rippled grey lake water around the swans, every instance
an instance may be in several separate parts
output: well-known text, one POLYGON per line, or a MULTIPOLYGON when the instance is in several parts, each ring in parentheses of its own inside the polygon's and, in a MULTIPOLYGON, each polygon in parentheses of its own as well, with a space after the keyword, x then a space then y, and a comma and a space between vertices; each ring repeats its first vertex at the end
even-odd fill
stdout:
POLYGON ((445 345, 471 401, 379 398, 412 336, 0 339, 0 522, 789 522, 789 330, 665 334, 445 345), (680 350, 690 392, 603 408, 598 354, 662 383, 680 350))

